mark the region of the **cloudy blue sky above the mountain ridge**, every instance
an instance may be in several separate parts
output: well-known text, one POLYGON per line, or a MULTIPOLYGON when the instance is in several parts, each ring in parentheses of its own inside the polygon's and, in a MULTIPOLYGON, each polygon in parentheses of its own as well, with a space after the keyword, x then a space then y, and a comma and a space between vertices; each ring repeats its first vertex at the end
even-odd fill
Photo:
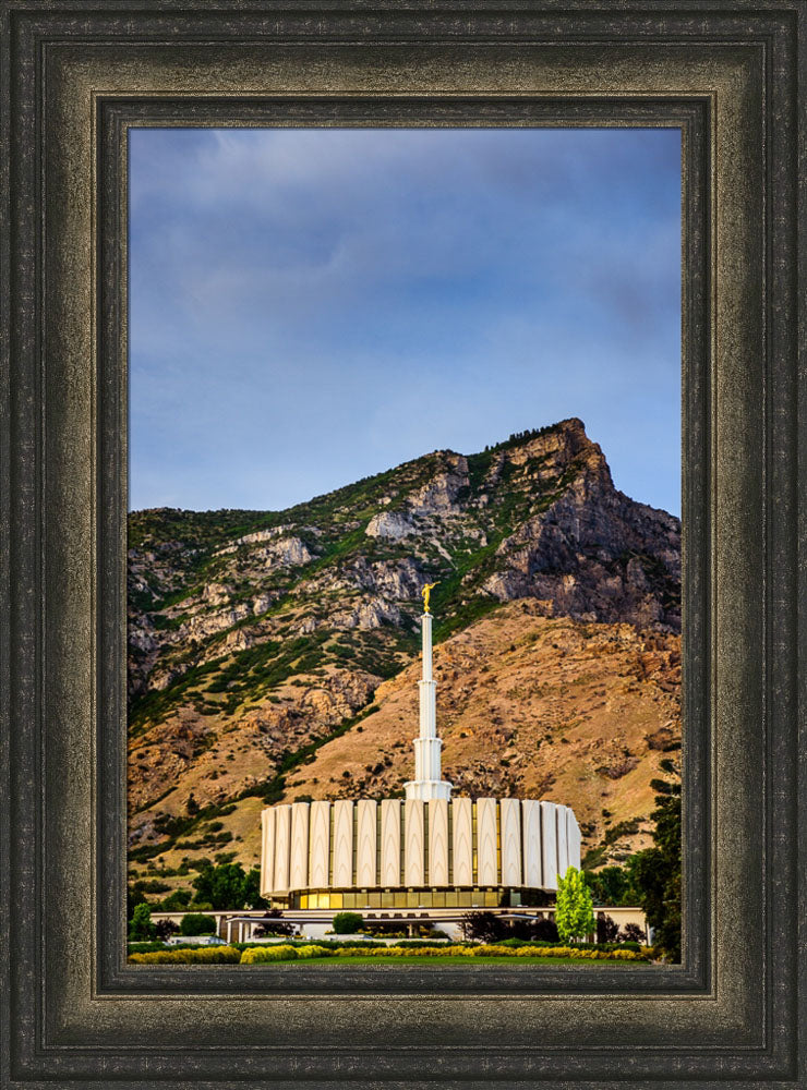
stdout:
POLYGON ((580 416, 680 510, 677 130, 130 130, 130 508, 580 416))

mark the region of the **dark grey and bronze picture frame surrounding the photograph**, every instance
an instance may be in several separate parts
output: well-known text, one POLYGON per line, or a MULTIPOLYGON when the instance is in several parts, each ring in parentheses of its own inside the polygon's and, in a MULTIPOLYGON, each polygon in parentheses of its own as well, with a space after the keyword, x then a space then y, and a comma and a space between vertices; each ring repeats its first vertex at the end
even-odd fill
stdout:
POLYGON ((0 16, 0 1085, 804 1086, 807 5, 0 16), (682 129, 680 967, 124 964, 125 140, 189 123, 682 129))

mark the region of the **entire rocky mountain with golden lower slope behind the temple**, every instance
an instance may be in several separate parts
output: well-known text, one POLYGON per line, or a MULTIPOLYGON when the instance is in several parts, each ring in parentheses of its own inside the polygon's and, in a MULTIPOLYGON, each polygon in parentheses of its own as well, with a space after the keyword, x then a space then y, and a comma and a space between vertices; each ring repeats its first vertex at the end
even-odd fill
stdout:
POLYGON ((281 512, 133 512, 129 546, 133 873, 254 862, 267 801, 400 794, 424 582, 457 791, 568 803, 591 863, 648 843, 680 746, 680 524, 614 487, 581 421, 281 512))

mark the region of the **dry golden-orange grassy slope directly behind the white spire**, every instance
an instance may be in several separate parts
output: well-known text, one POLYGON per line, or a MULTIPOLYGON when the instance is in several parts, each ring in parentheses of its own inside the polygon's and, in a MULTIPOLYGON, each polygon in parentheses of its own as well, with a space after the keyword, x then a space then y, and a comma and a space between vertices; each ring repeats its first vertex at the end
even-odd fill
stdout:
MULTIPOLYGON (((651 780, 676 778, 660 762, 679 764, 679 637, 551 614, 534 598, 511 602, 435 647, 444 775, 457 795, 564 802, 580 822, 583 852, 604 845, 600 864, 616 861, 651 843, 651 780)), ((282 801, 401 795, 413 771, 419 676, 413 662, 383 682, 377 711, 290 773, 282 801)), ((239 764, 265 761, 256 739, 250 746, 242 730, 238 739, 239 764)), ((196 762, 194 772, 214 763, 196 762)), ((248 797, 219 819, 232 835, 226 848, 246 865, 258 860, 262 806, 248 797)), ((176 868, 200 855, 209 846, 180 839, 154 862, 176 868)))

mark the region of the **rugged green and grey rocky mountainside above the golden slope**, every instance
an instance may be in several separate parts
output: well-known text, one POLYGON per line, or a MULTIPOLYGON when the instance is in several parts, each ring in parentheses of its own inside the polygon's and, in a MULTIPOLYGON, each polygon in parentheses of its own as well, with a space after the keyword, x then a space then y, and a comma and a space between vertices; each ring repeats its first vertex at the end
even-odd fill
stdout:
POLYGON ((257 798, 284 754, 366 708, 417 656, 425 582, 437 642, 519 600, 673 638, 680 524, 614 488, 577 419, 477 455, 434 451, 282 512, 134 512, 132 844, 168 843, 160 814, 162 827, 183 814, 190 791, 257 798))

